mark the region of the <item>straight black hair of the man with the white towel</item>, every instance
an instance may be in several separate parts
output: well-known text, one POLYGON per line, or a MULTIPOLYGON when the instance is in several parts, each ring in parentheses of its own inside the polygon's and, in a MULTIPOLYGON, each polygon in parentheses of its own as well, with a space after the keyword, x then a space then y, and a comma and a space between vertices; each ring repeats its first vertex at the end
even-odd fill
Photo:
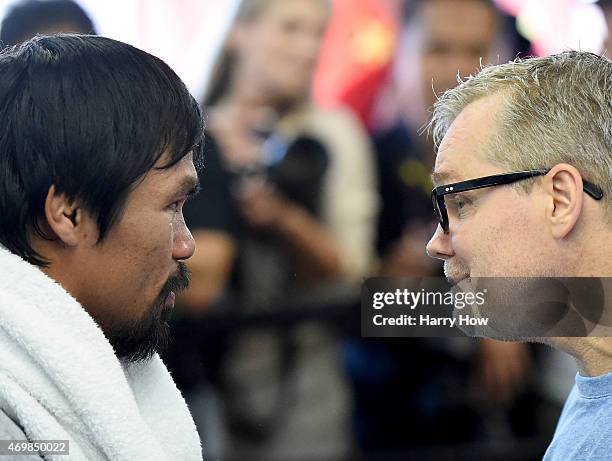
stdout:
POLYGON ((38 266, 48 261, 30 242, 45 238, 51 185, 97 220, 101 243, 148 171, 189 152, 202 162, 202 115, 183 82, 109 38, 41 36, 0 52, 0 120, 0 244, 38 266))

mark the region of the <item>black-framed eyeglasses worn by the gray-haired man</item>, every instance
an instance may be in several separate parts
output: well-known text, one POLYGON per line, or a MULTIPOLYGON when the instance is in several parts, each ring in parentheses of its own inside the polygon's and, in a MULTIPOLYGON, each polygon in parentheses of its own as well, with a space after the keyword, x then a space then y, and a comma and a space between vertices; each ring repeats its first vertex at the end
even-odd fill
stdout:
MULTIPOLYGON (((453 184, 445 184, 435 187, 431 191, 431 202, 434 206, 434 212, 438 217, 440 226, 444 233, 448 233, 448 212, 446 211, 446 203, 444 196, 448 194, 456 194, 469 190, 482 189, 484 187, 501 186, 504 184, 512 184, 524 179, 533 178, 534 176, 543 176, 550 170, 529 170, 515 171, 512 173, 496 174, 493 176, 485 176, 483 178, 469 179, 467 181, 456 182, 453 184)), ((593 197, 595 200, 603 198, 601 187, 592 182, 582 180, 584 192, 593 197)))

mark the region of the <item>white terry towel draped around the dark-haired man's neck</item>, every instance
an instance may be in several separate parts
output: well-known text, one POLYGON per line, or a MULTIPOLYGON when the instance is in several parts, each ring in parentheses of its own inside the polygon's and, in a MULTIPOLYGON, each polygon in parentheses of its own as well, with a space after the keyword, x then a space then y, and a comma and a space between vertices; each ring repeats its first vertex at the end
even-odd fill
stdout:
POLYGON ((30 440, 70 441, 69 456, 46 459, 202 459, 159 356, 122 364, 72 296, 1 246, 0 409, 30 440))

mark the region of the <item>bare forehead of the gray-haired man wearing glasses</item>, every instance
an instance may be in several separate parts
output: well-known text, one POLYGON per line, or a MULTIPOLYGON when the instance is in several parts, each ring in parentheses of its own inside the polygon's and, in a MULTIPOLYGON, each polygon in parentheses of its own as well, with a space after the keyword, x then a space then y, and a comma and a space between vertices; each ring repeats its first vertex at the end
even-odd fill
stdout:
POLYGON ((499 95, 469 104, 449 127, 440 143, 433 172, 434 184, 464 181, 500 172, 486 160, 491 136, 497 129, 499 95))

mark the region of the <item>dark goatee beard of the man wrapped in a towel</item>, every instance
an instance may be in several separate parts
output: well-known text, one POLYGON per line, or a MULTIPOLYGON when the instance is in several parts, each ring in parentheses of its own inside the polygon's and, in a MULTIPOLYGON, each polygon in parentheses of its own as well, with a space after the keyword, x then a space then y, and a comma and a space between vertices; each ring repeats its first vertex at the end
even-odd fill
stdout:
POLYGON ((190 273, 185 263, 178 263, 178 271, 170 277, 153 305, 141 319, 127 325, 115 326, 106 332, 117 357, 127 362, 147 361, 153 354, 164 352, 170 342, 168 319, 171 310, 164 308, 166 297, 176 295, 189 286, 190 273))

